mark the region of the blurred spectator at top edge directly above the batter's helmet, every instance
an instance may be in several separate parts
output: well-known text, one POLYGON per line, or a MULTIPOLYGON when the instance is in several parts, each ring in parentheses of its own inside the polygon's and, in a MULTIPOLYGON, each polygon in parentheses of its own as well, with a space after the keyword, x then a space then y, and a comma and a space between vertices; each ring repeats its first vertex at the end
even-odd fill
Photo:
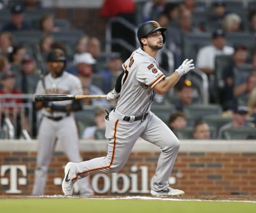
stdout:
POLYGON ((165 9, 166 0, 148 1, 143 6, 142 23, 150 20, 156 20, 158 15, 165 9))

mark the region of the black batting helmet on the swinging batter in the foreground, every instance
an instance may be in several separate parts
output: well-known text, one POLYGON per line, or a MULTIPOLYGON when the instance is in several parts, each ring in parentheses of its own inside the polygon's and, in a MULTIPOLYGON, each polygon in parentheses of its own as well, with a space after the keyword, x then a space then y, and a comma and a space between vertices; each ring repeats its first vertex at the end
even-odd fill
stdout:
POLYGON ((155 32, 157 30, 160 30, 162 32, 163 43, 164 43, 165 42, 164 31, 166 31, 166 28, 162 28, 160 26, 160 24, 156 21, 148 21, 148 22, 141 24, 141 26, 139 27, 138 32, 137 32, 137 37, 140 41, 140 45, 143 46, 140 39, 145 38, 147 35, 155 32))

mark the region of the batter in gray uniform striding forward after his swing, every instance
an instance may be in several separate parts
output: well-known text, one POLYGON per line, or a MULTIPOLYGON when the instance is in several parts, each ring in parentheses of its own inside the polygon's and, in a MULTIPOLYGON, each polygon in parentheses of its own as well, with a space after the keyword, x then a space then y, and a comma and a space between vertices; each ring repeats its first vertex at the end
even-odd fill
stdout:
POLYGON ((156 93, 164 94, 183 74, 194 69, 193 60, 186 59, 175 72, 165 76, 159 69, 156 55, 165 42, 166 28, 157 22, 143 23, 137 32, 141 47, 123 63, 124 72, 118 77, 115 89, 107 99, 119 97, 115 109, 106 116, 108 154, 81 163, 65 166, 62 191, 73 194, 73 184, 93 172, 118 172, 125 164, 139 137, 156 144, 161 150, 150 193, 153 196, 183 195, 167 183, 177 157, 180 142, 156 115, 150 112, 156 93))

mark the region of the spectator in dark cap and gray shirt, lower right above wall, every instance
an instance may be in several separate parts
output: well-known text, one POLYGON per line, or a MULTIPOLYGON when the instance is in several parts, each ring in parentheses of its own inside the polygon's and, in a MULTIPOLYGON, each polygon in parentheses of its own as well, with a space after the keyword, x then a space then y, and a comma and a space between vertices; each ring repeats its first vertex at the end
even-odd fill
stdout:
POLYGON ((224 124, 220 127, 218 132, 218 139, 223 139, 223 131, 230 128, 239 128, 239 127, 253 127, 253 123, 247 121, 248 108, 244 105, 236 105, 233 109, 233 121, 224 124))

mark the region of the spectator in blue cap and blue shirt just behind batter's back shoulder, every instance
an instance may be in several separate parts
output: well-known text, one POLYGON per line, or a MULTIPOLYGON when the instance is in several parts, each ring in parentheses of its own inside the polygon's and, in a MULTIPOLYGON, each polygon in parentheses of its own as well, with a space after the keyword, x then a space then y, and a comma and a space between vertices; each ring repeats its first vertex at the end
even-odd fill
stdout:
POLYGON ((99 74, 105 76, 105 92, 111 89, 111 78, 113 76, 118 77, 122 72, 122 59, 119 53, 112 53, 108 57, 107 70, 102 70, 99 74))

